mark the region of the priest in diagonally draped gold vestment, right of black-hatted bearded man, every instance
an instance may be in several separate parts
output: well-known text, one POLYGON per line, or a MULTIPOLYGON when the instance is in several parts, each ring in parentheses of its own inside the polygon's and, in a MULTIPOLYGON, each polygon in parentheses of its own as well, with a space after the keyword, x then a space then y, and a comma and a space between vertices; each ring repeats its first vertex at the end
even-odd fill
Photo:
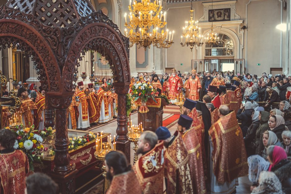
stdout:
POLYGON ((34 110, 34 128, 43 130, 45 125, 45 109, 46 109, 46 92, 42 89, 42 87, 39 87, 39 91, 37 92, 37 97, 35 98, 35 106, 37 107, 37 110, 34 110))

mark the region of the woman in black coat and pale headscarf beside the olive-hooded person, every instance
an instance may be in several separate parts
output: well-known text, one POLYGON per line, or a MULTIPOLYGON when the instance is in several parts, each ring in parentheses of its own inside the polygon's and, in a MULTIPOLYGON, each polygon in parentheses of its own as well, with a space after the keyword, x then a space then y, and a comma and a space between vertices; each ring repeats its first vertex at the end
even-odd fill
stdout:
POLYGON ((253 111, 252 124, 248 128, 246 136, 244 137, 245 149, 248 156, 254 155, 256 153, 255 138, 256 131, 260 125, 259 114, 259 111, 253 111))

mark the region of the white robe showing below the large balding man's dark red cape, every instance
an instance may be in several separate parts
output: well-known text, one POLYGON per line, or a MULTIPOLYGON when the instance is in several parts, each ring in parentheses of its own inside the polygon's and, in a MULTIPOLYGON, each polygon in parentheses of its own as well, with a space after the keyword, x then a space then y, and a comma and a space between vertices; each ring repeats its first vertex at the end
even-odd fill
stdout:
MULTIPOLYGON (((212 157, 213 144, 210 138, 210 157, 212 157)), ((210 180, 211 180, 211 194, 229 194, 236 190, 236 179, 233 179, 231 183, 219 183, 213 173, 213 161, 210 159, 210 180)))

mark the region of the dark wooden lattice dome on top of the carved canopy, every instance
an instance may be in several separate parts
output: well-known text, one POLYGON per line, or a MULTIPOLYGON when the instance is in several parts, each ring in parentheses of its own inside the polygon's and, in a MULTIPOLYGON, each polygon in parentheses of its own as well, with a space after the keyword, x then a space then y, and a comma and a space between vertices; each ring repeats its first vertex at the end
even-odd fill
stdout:
POLYGON ((63 28, 95 11, 89 0, 9 0, 6 5, 34 15, 42 24, 63 28))

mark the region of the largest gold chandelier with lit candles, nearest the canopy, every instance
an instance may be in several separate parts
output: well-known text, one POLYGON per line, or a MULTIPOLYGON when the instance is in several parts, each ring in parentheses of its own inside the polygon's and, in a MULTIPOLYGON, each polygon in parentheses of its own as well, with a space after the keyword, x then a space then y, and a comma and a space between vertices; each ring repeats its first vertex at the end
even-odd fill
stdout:
POLYGON ((173 44, 174 31, 169 32, 167 29, 164 32, 162 29, 159 32, 159 28, 163 28, 167 24, 165 22, 166 12, 162 11, 161 0, 159 2, 157 0, 154 2, 133 0, 132 4, 131 2, 130 0, 128 6, 130 13, 124 14, 124 26, 130 29, 129 32, 127 29, 124 30, 125 36, 129 38, 129 46, 132 47, 136 44, 137 48, 144 47, 145 50, 150 48, 150 45, 157 48, 169 48, 173 44), (128 23, 127 17, 129 18, 128 23), (152 31, 150 32, 151 27, 152 31), (136 32, 136 30, 138 31, 136 32))

